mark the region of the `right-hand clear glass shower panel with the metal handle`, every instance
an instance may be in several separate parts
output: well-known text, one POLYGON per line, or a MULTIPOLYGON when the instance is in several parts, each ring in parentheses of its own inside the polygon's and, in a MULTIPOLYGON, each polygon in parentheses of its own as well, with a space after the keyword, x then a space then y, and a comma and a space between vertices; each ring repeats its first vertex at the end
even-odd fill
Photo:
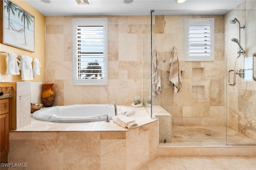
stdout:
POLYGON ((247 0, 239 9, 225 15, 227 69, 234 70, 236 76, 236 84, 227 85, 226 89, 227 144, 255 145, 256 81, 253 80, 252 54, 256 51, 256 41, 252 37, 256 36, 256 2, 247 0), (234 18, 236 23, 229 22, 234 18), (245 28, 239 29, 239 25, 245 28), (244 54, 240 54, 241 48, 244 54))

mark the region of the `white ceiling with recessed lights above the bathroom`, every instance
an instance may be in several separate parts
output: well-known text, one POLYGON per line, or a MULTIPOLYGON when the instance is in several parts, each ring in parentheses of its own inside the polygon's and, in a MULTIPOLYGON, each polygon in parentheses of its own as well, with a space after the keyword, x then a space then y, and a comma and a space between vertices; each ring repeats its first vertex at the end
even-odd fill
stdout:
POLYGON ((186 0, 178 4, 175 0, 90 0, 92 5, 78 5, 76 0, 25 0, 44 16, 142 16, 212 14, 224 15, 244 0, 186 0))

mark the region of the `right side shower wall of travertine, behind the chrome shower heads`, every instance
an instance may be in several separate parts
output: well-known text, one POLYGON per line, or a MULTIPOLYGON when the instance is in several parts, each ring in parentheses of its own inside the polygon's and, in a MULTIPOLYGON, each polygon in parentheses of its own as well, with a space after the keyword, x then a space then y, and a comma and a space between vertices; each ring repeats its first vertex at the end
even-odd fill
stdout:
MULTIPOLYGON (((225 16, 225 23, 227 69, 234 69, 236 61, 236 70, 239 70, 244 68, 244 57, 251 57, 252 53, 256 52, 256 1, 246 0, 228 12, 225 16), (238 45, 230 41, 231 38, 238 39, 239 37, 238 24, 229 24, 229 20, 234 18, 240 21, 241 26, 245 25, 245 29, 241 30, 241 45, 245 50, 245 55, 241 55, 237 61, 238 45)), ((256 81, 244 81, 236 75, 236 85, 234 87, 227 86, 227 125, 250 138, 256 139, 255 120, 256 81), (236 97, 233 91, 239 97, 236 97)))

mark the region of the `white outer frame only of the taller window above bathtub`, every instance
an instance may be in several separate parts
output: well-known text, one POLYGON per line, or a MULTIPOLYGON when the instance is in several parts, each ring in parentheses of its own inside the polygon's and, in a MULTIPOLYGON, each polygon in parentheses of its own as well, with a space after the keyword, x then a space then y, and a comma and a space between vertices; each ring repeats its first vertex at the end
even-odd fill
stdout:
POLYGON ((73 85, 108 85, 108 18, 73 18, 73 85), (103 26, 104 34, 104 79, 77 79, 77 26, 103 26))

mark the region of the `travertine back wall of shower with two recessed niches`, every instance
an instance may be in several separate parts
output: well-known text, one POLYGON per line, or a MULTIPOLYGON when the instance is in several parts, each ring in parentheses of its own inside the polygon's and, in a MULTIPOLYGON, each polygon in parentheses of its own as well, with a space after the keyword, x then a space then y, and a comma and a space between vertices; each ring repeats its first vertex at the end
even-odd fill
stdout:
MULTIPOLYGON (((159 56, 162 93, 152 99, 172 114, 172 125, 225 125, 224 16, 155 16, 152 46, 159 56), (215 60, 213 62, 184 61, 184 18, 214 18, 215 60), (176 46, 183 87, 178 94, 168 80, 166 71, 172 47, 176 46), (163 62, 163 60, 166 62, 163 62)), ((154 106, 153 106, 154 107, 154 106)))

